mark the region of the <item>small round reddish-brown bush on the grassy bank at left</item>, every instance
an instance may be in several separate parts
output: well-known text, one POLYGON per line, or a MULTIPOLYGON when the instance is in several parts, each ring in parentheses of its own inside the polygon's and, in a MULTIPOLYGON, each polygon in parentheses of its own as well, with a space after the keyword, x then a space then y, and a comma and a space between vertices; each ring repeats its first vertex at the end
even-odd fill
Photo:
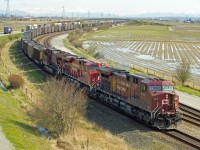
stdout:
POLYGON ((16 74, 11 74, 8 80, 11 88, 19 88, 24 85, 24 79, 16 74))

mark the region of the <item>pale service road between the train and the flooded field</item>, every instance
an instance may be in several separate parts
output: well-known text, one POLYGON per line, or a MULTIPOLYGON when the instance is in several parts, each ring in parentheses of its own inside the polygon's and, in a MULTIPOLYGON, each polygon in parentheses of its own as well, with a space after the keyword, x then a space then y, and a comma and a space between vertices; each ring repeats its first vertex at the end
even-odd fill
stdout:
MULTIPOLYGON (((69 49, 67 49, 64 44, 63 44, 63 39, 67 37, 67 34, 57 36, 52 39, 51 45, 53 47, 56 47, 60 50, 70 52, 69 49)), ((70 52, 72 53, 72 52, 70 52)), ((193 108, 199 109, 200 110, 200 97, 194 96, 194 95, 189 95, 187 93, 179 92, 177 91, 179 97, 180 97, 180 102, 186 105, 189 105, 193 108)))

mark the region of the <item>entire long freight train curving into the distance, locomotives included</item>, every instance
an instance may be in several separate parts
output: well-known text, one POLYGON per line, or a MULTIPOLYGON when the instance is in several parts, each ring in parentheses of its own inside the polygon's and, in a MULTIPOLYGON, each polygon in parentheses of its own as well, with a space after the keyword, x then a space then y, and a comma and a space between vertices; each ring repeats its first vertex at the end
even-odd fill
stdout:
POLYGON ((175 129, 181 119, 181 111, 179 96, 175 93, 172 82, 131 74, 105 63, 87 60, 55 48, 46 48, 33 41, 33 38, 43 34, 99 25, 102 23, 68 23, 32 29, 23 33, 22 49, 41 68, 52 75, 79 83, 96 100, 158 129, 175 129))

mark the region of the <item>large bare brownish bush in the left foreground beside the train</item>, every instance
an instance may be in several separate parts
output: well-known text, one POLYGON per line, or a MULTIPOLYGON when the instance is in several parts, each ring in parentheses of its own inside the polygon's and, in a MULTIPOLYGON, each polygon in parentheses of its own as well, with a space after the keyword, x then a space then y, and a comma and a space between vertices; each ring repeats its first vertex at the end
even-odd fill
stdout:
POLYGON ((43 99, 30 112, 35 123, 56 137, 73 133, 86 110, 86 92, 55 78, 50 78, 42 89, 43 99))

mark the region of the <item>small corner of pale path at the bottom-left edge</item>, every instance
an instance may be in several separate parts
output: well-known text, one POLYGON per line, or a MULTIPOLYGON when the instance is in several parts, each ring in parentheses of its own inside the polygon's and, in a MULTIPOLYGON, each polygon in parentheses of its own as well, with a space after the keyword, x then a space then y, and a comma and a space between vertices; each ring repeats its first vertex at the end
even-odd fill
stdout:
POLYGON ((4 134, 1 131, 0 126, 0 150, 13 150, 14 147, 11 145, 11 143, 6 139, 4 134))

